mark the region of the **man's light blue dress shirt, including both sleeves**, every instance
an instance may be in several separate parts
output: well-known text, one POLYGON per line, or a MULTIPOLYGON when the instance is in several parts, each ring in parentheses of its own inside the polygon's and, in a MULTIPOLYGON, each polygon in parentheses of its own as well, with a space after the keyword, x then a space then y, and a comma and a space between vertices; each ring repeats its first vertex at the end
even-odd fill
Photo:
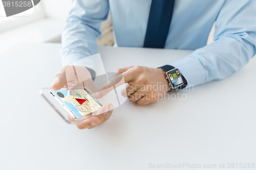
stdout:
MULTIPOLYGON (((143 47, 150 6, 150 0, 75 0, 62 33, 62 64, 96 53, 109 10, 115 45, 143 47)), ((176 0, 165 48, 196 50, 166 63, 179 68, 189 85, 224 79, 256 53, 256 0, 176 0), (206 45, 215 21, 215 41, 206 45)), ((93 59, 84 66, 95 69, 93 59)))

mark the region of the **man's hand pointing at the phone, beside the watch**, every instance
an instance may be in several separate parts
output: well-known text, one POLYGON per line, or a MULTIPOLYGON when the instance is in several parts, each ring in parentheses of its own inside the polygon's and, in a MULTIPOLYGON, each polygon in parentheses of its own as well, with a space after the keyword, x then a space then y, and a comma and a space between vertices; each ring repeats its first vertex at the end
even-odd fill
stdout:
MULTIPOLYGON (((168 81, 165 79, 165 71, 161 68, 130 66, 119 68, 117 72, 122 74, 124 82, 128 83, 126 89, 122 90, 122 95, 125 97, 128 96, 131 102, 137 102, 139 105, 158 102, 170 88, 168 81)), ((119 82, 118 77, 120 75, 115 79, 111 79, 109 84, 100 88, 95 93, 95 97, 98 99, 102 98, 102 96, 112 90, 108 88, 111 84, 116 84, 115 87, 117 87, 117 82, 119 82)))

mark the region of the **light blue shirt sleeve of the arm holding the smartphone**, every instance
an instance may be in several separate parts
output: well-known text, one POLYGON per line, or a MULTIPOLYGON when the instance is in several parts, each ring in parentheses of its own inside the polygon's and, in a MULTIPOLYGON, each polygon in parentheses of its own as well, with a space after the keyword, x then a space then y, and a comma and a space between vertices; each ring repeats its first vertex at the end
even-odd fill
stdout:
POLYGON ((74 1, 61 37, 63 66, 81 61, 79 64, 95 71, 94 58, 89 56, 96 54, 100 24, 108 14, 108 0, 74 1))

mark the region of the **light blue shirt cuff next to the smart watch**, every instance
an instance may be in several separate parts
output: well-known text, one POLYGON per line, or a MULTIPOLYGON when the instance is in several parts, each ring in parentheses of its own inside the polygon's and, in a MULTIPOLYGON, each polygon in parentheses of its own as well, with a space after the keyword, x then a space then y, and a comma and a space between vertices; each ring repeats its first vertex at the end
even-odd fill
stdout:
POLYGON ((187 80, 187 87, 203 84, 206 78, 206 72, 200 61, 193 57, 185 57, 181 60, 171 63, 176 68, 179 68, 181 74, 187 80))

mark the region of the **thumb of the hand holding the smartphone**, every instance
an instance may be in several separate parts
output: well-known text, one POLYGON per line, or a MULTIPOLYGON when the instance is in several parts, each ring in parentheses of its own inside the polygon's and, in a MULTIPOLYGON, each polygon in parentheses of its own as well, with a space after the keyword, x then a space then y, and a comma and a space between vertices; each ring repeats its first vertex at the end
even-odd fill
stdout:
POLYGON ((53 83, 51 85, 51 88, 54 90, 58 90, 66 85, 66 68, 68 66, 62 67, 56 75, 53 77, 53 83))

